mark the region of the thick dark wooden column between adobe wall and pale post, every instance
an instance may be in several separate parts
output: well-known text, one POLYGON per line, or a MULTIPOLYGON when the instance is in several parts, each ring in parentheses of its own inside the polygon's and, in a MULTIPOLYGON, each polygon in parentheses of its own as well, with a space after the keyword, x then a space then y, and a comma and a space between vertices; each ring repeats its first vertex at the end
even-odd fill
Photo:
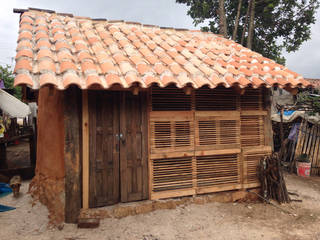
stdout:
POLYGON ((65 222, 77 223, 81 208, 81 90, 64 95, 65 222))

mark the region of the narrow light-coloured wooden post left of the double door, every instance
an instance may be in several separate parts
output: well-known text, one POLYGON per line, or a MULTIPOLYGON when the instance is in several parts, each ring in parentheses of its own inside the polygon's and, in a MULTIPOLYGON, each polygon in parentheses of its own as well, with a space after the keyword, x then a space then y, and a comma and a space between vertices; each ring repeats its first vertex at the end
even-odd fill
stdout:
POLYGON ((82 92, 82 208, 89 208, 89 114, 88 91, 82 92))

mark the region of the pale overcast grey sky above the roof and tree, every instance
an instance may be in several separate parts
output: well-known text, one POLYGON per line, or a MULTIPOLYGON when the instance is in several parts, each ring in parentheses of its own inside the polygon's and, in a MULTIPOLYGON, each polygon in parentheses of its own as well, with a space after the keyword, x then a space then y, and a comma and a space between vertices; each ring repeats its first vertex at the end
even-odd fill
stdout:
MULTIPOLYGON (((106 18, 165 27, 198 29, 187 15, 188 7, 175 0, 1 0, 0 65, 14 66, 19 14, 13 8, 45 8, 76 16, 106 18)), ((311 40, 297 52, 283 52, 286 66, 305 78, 320 78, 320 11, 312 26, 311 40)))

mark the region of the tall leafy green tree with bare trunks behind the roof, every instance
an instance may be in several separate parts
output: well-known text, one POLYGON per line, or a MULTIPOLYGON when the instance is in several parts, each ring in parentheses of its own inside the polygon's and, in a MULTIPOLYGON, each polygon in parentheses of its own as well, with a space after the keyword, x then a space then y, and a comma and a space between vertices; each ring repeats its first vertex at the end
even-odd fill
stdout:
POLYGON ((310 39, 318 0, 176 0, 189 7, 194 24, 219 33, 284 64, 282 50, 294 52, 310 39), (226 27, 225 27, 226 26, 226 27))

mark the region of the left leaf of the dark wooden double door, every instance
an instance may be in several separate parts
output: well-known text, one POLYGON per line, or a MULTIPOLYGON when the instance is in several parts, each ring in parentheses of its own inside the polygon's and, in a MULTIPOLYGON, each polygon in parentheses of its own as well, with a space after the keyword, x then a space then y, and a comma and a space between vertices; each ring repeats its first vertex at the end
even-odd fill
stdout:
POLYGON ((89 92, 90 207, 119 202, 119 95, 89 92))

